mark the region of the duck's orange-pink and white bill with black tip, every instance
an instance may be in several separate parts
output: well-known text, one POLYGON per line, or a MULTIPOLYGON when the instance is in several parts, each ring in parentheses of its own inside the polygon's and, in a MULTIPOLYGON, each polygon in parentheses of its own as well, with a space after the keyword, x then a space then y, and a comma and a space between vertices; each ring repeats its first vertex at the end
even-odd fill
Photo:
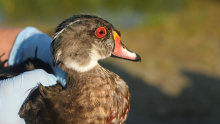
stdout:
POLYGON ((115 40, 115 47, 111 55, 112 57, 127 59, 131 61, 141 61, 141 57, 138 54, 126 48, 126 46, 121 42, 120 36, 115 31, 113 31, 113 37, 115 40))

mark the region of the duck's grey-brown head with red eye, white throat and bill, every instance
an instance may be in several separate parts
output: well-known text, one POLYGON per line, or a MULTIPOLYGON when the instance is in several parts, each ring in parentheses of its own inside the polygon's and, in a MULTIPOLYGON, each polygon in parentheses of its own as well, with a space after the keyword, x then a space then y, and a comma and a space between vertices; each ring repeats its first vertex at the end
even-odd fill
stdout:
POLYGON ((106 20, 94 15, 75 15, 56 29, 51 44, 53 64, 85 72, 98 60, 117 57, 140 61, 121 42, 120 32, 106 20))

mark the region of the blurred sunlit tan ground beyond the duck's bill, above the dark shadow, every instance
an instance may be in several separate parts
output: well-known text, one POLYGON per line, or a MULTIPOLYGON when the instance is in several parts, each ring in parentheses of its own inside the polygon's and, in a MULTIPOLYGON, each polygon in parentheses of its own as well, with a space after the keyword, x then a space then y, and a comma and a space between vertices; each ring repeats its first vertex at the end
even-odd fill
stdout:
POLYGON ((194 2, 166 23, 122 31, 125 44, 142 56, 142 63, 122 66, 172 96, 189 85, 183 69, 220 77, 219 12, 218 2, 194 2))

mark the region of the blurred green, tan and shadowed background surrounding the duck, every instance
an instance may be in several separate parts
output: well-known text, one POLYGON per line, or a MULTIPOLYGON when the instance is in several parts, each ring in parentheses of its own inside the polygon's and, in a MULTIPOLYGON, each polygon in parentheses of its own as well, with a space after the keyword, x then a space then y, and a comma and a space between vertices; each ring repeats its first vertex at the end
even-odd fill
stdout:
POLYGON ((126 123, 220 123, 220 0, 1 0, 0 26, 51 36, 79 13, 111 22, 142 57, 101 62, 130 87, 126 123))

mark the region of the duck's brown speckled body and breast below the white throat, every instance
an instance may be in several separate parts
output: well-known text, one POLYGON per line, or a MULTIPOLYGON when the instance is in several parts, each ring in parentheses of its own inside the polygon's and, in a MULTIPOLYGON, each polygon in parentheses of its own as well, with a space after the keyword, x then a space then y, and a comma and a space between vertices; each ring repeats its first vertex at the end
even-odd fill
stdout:
POLYGON ((36 121, 63 124, 125 122, 130 106, 129 92, 119 76, 100 66, 87 73, 73 71, 68 76, 71 77, 69 81, 74 79, 75 82, 65 90, 59 84, 49 88, 40 86, 29 97, 34 99, 23 105, 20 116, 30 124, 36 121))

